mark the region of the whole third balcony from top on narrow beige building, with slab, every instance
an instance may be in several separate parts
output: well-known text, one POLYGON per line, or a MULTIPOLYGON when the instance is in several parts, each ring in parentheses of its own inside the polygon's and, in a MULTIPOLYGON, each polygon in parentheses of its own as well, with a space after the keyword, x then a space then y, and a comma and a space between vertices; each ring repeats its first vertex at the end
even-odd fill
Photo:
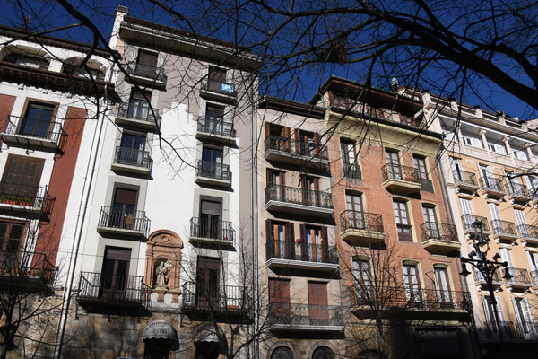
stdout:
POLYGON ((334 273, 339 267, 336 247, 304 240, 269 241, 265 243, 265 253, 265 266, 272 269, 334 273))

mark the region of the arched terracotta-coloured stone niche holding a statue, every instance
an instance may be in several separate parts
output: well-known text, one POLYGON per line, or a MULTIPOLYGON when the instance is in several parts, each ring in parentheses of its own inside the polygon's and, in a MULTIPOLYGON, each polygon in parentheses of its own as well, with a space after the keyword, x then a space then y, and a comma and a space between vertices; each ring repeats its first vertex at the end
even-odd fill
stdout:
POLYGON ((157 302, 164 302, 165 294, 171 294, 172 302, 179 301, 182 248, 183 241, 175 232, 159 230, 150 234, 144 283, 157 294, 157 302))

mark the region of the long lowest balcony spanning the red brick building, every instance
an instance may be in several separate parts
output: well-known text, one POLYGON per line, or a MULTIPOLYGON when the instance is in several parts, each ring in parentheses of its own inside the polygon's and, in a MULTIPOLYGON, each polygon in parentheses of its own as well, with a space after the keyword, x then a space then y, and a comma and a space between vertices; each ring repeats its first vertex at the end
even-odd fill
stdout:
POLYGON ((405 286, 351 287, 351 312, 360 319, 464 320, 471 310, 471 296, 464 291, 420 289, 409 293, 405 286), (377 293, 376 293, 377 291, 377 293))

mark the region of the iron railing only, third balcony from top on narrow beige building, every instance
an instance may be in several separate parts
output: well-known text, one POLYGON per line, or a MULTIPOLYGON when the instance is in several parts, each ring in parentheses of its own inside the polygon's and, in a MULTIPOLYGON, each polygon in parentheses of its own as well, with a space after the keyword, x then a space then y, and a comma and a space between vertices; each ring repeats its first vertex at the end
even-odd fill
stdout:
POLYGON ((334 246, 299 241, 268 241, 265 243, 267 260, 272 258, 300 260, 311 263, 338 264, 338 251, 334 246))

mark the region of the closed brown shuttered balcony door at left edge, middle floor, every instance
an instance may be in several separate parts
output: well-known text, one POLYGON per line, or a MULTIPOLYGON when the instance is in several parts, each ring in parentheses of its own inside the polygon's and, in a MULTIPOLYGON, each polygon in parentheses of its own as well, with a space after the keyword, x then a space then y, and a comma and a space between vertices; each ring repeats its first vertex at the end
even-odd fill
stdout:
POLYGON ((0 188, 3 203, 34 206, 45 160, 10 155, 0 188))

